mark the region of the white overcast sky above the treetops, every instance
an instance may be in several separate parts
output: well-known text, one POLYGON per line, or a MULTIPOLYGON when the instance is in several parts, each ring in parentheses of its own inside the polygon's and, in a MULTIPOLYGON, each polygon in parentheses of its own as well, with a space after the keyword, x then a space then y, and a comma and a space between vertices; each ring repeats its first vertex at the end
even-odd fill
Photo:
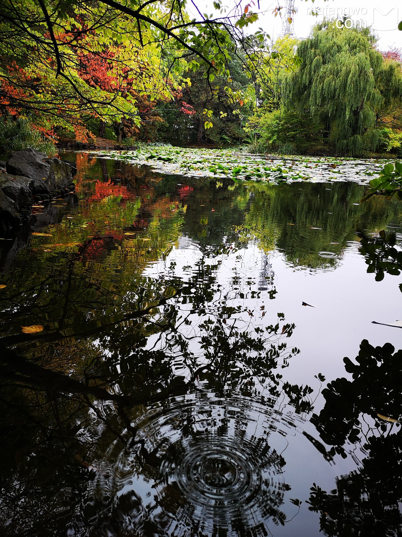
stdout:
MULTIPOLYGON (((244 6, 251 0, 243 0, 244 6)), ((211 14, 214 12, 212 8, 212 0, 201 0, 196 2, 200 11, 211 14)), ((230 8, 232 2, 225 0, 222 5, 227 5, 230 8)), ((257 4, 257 0, 255 0, 257 4)), ((285 5, 286 0, 260 0, 260 16, 256 24, 252 26, 251 31, 256 31, 260 26, 265 32, 269 33, 271 38, 276 38, 281 31, 282 21, 280 17, 274 17, 272 11, 278 5, 285 5), (255 28, 254 28, 255 26, 255 28)), ((188 4, 189 8, 191 3, 188 4)), ((233 4, 232 4, 233 5, 233 4)), ((243 6, 243 7, 244 7, 243 6)), ((315 0, 314 4, 311 0, 295 0, 295 9, 297 12, 294 15, 294 35, 297 38, 308 37, 311 26, 317 20, 322 20, 326 11, 327 16, 337 16, 342 19, 340 13, 348 13, 352 21, 362 21, 362 24, 371 26, 377 34, 378 48, 380 50, 388 50, 391 47, 402 48, 402 32, 398 31, 397 26, 402 20, 402 3, 388 0, 315 0), (399 7, 398 7, 399 4, 399 7), (311 10, 321 9, 321 15, 314 17, 311 15, 311 10), (330 11, 331 10, 331 11, 330 11)), ((257 5, 252 6, 253 11, 257 10, 257 5)), ((193 12, 193 9, 190 9, 193 12)), ((352 24, 352 23, 348 23, 352 24)), ((251 28, 251 27, 249 27, 251 28)))

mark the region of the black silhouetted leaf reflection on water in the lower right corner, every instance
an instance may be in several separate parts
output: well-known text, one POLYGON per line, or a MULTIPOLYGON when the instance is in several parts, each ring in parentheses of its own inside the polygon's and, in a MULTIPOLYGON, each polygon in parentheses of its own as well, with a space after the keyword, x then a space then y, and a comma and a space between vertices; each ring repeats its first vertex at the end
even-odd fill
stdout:
POLYGON ((356 458, 359 444, 363 454, 359 471, 338 478, 336 490, 311 489, 310 509, 321 512, 327 535, 388 537, 402 531, 401 359, 402 351, 394 352, 390 343, 373 347, 363 340, 357 364, 344 360, 353 380, 328 384, 325 406, 311 418, 332 454, 356 458))

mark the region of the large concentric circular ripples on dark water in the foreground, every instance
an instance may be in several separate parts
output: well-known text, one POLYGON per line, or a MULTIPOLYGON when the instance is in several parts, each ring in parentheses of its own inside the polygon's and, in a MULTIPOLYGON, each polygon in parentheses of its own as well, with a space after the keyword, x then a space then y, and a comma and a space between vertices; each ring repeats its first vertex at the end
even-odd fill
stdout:
POLYGON ((108 535, 237 535, 284 521, 282 452, 296 426, 243 396, 197 393, 148 409, 100 468, 93 493, 108 535))

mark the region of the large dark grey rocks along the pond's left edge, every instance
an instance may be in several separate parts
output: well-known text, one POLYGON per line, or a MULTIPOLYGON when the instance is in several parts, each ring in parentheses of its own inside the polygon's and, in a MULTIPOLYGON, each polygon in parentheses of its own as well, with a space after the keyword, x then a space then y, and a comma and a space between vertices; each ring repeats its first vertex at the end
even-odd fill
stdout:
POLYGON ((74 195, 77 166, 33 149, 14 151, 0 161, 0 234, 18 231, 24 223, 35 226, 39 215, 32 206, 55 197, 74 195))

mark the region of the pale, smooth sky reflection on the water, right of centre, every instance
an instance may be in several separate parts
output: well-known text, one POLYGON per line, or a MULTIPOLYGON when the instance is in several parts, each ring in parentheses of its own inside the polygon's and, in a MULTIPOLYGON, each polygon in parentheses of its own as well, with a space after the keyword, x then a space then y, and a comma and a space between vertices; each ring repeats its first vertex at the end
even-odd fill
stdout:
MULTIPOLYGON (((400 329, 371 324, 374 320, 390 322, 402 317, 399 279, 385 274, 383 281, 376 282, 375 274, 366 272, 367 265, 359 253, 359 243, 349 241, 342 252, 342 258, 330 270, 295 267, 285 260, 282 252, 271 252, 270 262, 275 274, 273 283, 278 291, 274 300, 269 300, 267 292, 262 292, 260 298, 250 298, 247 281, 253 281, 251 289, 257 291, 262 255, 256 245, 250 245, 249 248, 235 251, 228 256, 218 257, 222 264, 215 272, 214 287, 220 284, 224 293, 228 293, 228 306, 240 305, 254 310, 254 326, 274 324, 278 312, 285 314, 286 322, 295 323, 293 335, 285 341, 289 349, 296 346, 301 353, 289 360, 288 368, 278 368, 277 371, 284 375, 285 380, 299 385, 308 384, 314 388, 314 398, 319 388, 314 375, 322 373, 326 382, 341 376, 348 378, 350 375, 345 372, 343 358, 348 356, 353 360, 359 352, 362 339, 368 339, 374 346, 390 342, 396 349, 402 347, 400 329), (235 277, 237 279, 234 284, 235 277), (237 289, 234 289, 235 287, 237 289), (244 295, 248 292, 249 297, 240 299, 240 292, 244 295), (302 302, 315 307, 302 306, 302 302), (265 306, 266 311, 263 319, 260 317, 261 306, 265 306)), ((166 263, 154 263, 148 267, 146 274, 155 277, 161 275, 166 272, 171 262, 175 262, 176 274, 186 281, 191 277, 191 272, 195 270, 195 264, 200 258, 198 245, 188 237, 182 237, 179 248, 170 253, 166 263), (191 269, 187 268, 189 265, 192 265, 191 269)), ((215 258, 215 262, 217 259, 215 258)), ((214 261, 212 258, 205 258, 205 263, 214 264, 214 261)), ((191 309, 191 304, 177 305, 181 309, 191 309)), ((214 309, 212 303, 208 307, 214 309)), ((197 319, 199 322, 198 315, 193 315, 192 318, 194 324, 197 319)), ((247 324, 247 314, 243 314, 242 318, 247 324)), ((252 326, 250 329, 252 330, 252 326)), ((197 354, 200 354, 198 344, 194 343, 191 348, 193 351, 198 350, 197 354)), ((264 388, 261 389, 264 394, 264 388)), ((278 403, 280 404, 280 401, 278 403)), ((315 402, 316 412, 322 408, 322 403, 323 398, 319 396, 315 402)), ((256 420, 257 430, 259 420, 264 420, 263 414, 260 418, 256 416, 256 420)), ((301 429, 318 438, 317 431, 309 421, 302 424, 301 429)), ((275 441, 275 438, 274 435, 270 441, 275 441)), ((296 433, 295 437, 291 434, 286 438, 288 444, 284 452, 284 477, 285 482, 292 487, 286 498, 301 498, 304 501, 308 498, 309 488, 314 481, 324 490, 331 490, 335 486, 337 476, 356 467, 349 457, 346 460, 337 457, 336 464, 329 465, 301 434, 296 433)), ((286 512, 290 517, 291 509, 287 508, 286 512)), ((272 531, 272 524, 268 524, 268 527, 272 531)), ((273 534, 286 537, 318 535, 317 516, 304 505, 292 523, 287 523, 284 527, 275 526, 273 534)))

